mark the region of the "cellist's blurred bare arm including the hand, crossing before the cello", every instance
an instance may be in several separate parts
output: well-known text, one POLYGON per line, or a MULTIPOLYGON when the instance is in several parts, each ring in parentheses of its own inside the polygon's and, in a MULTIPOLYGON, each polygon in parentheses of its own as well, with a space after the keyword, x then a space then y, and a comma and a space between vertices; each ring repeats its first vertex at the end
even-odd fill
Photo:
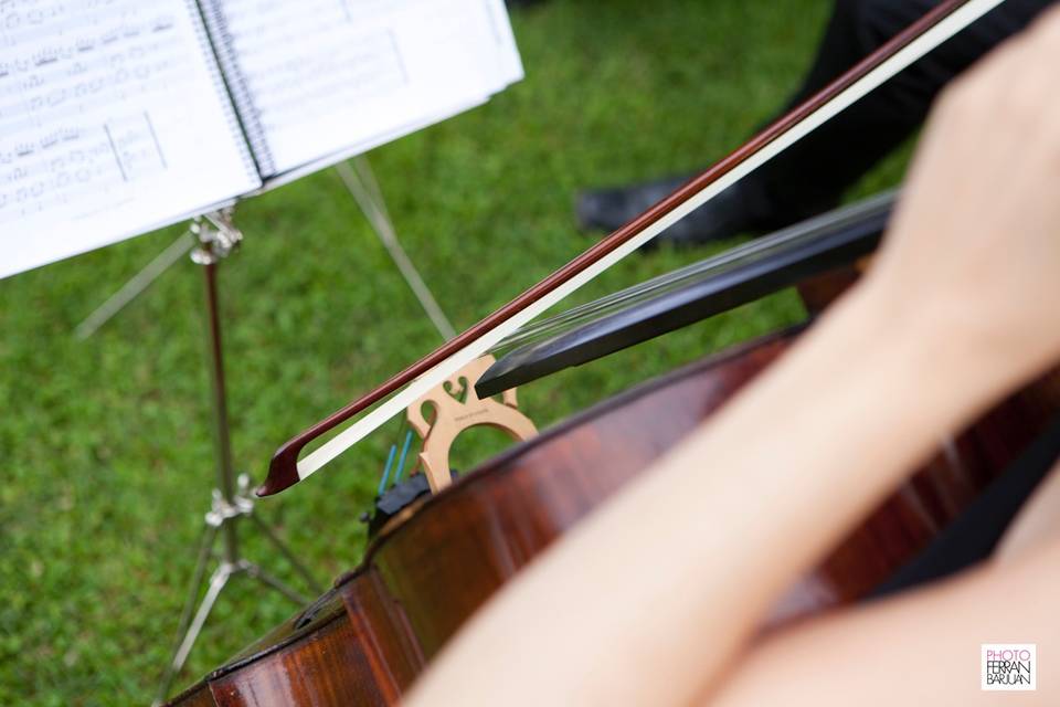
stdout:
POLYGON ((947 91, 868 281, 500 592, 411 704, 710 694, 936 440, 1060 355, 1060 15, 1027 34, 947 91))

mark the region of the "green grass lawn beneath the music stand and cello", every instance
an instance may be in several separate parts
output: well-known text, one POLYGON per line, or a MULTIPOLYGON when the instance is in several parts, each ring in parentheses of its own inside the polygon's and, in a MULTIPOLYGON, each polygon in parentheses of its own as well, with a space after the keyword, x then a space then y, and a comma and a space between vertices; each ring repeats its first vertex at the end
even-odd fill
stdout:
MULTIPOLYGON (((825 0, 551 0, 515 13, 527 80, 371 154, 398 230, 458 327, 574 256, 584 186, 703 166, 796 85, 825 0)), ((869 184, 893 182, 898 157, 869 184)), ((333 172, 247 202, 222 266, 237 462, 261 479, 290 434, 438 344, 333 172)), ((0 282, 0 704, 149 700, 172 642, 213 478, 201 274, 188 263, 88 341, 74 326, 179 232, 0 282)), ((600 296, 701 257, 630 257, 600 296)), ((781 294, 526 387, 547 425, 608 394, 797 320, 781 294)), ((364 548, 393 428, 259 505, 321 581, 364 548)), ((467 468, 496 451, 465 441, 467 468)), ((257 539, 247 553, 289 577, 257 539)), ((294 606, 226 590, 187 684, 294 606)))

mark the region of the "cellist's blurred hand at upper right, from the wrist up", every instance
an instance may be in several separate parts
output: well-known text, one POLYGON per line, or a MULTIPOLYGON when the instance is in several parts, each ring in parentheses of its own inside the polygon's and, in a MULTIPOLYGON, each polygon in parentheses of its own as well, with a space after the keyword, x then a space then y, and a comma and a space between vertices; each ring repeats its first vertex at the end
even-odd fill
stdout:
POLYGON ((1060 357, 1057 66, 1050 10, 946 88, 866 282, 944 363, 973 357, 997 391, 1060 357))

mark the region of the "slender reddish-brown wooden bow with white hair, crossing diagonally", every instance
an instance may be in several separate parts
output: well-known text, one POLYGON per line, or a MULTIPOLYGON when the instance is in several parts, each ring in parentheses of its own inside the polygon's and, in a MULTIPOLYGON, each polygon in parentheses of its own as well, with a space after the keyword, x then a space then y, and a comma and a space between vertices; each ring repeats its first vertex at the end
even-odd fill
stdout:
POLYGON ((489 351, 519 327, 633 253, 667 228, 773 159, 859 98, 1001 4, 1005 0, 945 0, 808 101, 570 263, 423 357, 379 388, 293 437, 273 455, 257 489, 271 496, 294 486, 399 414, 455 371, 489 351), (396 394, 394 394, 396 391, 396 394), (307 444, 379 405, 306 455, 307 444))

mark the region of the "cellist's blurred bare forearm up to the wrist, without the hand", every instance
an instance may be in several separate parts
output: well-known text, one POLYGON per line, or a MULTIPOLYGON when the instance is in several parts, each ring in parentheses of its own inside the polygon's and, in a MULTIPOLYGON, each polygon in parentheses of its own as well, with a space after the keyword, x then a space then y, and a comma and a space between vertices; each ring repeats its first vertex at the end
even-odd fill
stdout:
POLYGON ((942 365, 947 352, 928 342, 937 337, 919 334, 865 292, 841 304, 528 568, 414 697, 692 698, 770 602, 989 394, 961 361, 942 365), (471 674, 469 694, 460 687, 471 674))

